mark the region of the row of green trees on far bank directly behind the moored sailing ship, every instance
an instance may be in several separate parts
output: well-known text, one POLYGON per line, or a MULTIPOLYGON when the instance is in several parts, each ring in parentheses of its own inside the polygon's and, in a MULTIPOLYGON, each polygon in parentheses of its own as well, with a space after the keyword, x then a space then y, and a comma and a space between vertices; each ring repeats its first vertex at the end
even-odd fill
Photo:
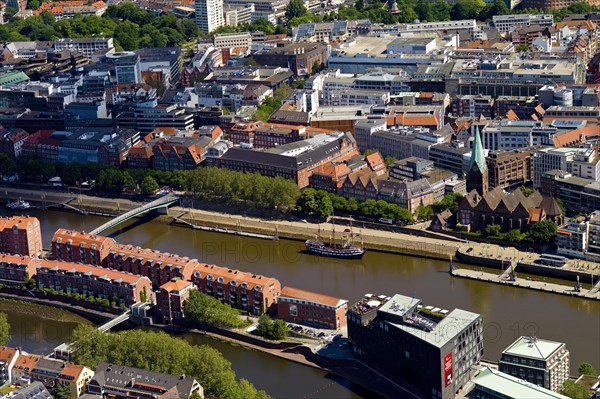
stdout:
POLYGON ((396 222, 412 222, 408 209, 384 200, 358 202, 354 197, 345 198, 324 190, 305 188, 296 203, 296 211, 302 216, 325 219, 333 212, 338 215, 363 216, 370 219, 392 219, 396 222))

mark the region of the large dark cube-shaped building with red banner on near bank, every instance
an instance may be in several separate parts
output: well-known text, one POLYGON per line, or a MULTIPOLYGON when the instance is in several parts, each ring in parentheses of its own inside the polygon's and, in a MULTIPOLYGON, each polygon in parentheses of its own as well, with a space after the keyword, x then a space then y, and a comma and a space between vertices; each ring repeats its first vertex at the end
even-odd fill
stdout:
POLYGON ((348 309, 350 349, 418 397, 453 399, 483 355, 483 319, 420 299, 365 295, 348 309))

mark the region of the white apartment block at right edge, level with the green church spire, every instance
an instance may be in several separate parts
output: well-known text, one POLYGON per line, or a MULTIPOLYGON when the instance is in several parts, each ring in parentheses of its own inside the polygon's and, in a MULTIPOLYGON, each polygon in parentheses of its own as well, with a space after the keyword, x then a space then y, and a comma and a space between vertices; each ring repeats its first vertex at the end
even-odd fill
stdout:
POLYGON ((593 148, 545 148, 533 154, 533 185, 544 172, 564 170, 573 176, 600 181, 600 157, 593 148))

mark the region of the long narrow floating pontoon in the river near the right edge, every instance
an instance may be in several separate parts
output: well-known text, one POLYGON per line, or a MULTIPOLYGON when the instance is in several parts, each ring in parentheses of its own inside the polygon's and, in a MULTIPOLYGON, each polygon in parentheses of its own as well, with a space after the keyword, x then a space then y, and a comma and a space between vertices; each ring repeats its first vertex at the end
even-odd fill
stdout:
POLYGON ((555 294, 569 295, 584 299, 595 299, 600 300, 600 292, 595 291, 593 289, 587 290, 585 288, 580 288, 576 290, 575 287, 569 287, 567 285, 560 285, 555 283, 547 283, 543 281, 534 281, 523 278, 515 278, 514 281, 506 278, 502 278, 503 276, 498 276, 493 273, 470 270, 470 269, 457 269, 452 268, 450 271, 452 276, 469 278, 472 280, 486 281, 495 284, 502 285, 511 285, 519 288, 528 288, 532 290, 551 292, 555 294))

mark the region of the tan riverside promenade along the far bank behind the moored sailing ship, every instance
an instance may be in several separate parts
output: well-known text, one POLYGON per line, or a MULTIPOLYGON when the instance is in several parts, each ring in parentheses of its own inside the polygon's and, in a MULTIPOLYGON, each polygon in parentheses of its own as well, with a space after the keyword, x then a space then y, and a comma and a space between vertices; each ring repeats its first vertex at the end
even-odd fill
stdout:
MULTIPOLYGON (((140 206, 140 202, 123 198, 102 198, 65 192, 43 193, 36 190, 4 187, 6 199, 23 198, 33 205, 44 205, 57 210, 80 211, 114 216, 140 206), (61 203, 69 201, 68 206, 61 203)), ((180 193, 183 194, 183 193, 180 193)), ((262 217, 236 215, 214 210, 197 209, 189 205, 204 206, 187 201, 185 207, 173 207, 171 215, 161 215, 157 221, 179 224, 185 227, 195 226, 198 229, 227 234, 250 233, 265 238, 274 237, 292 240, 313 239, 319 231, 323 237, 332 233, 329 223, 308 223, 293 218, 276 219, 270 215, 262 217), (178 219, 178 220, 176 220, 178 219)), ((361 233, 355 244, 362 244, 369 250, 385 251, 401 255, 421 256, 440 260, 454 257, 457 262, 480 267, 502 269, 512 261, 517 261, 517 271, 544 277, 554 277, 575 283, 579 276, 582 283, 595 285, 600 280, 600 264, 584 260, 569 260, 564 266, 546 267, 536 263, 540 254, 533 251, 522 251, 515 247, 503 247, 496 244, 457 241, 455 237, 445 238, 443 234, 431 234, 421 229, 405 229, 405 232, 385 231, 361 228, 362 223, 355 223, 354 232, 361 233), (410 230, 410 231, 407 231, 410 230), (437 238, 439 237, 439 238, 437 238), (360 242, 359 242, 360 241, 360 242)), ((193 227, 191 227, 193 228, 193 227)), ((348 226, 336 225, 335 236, 339 238, 348 226)), ((523 282, 524 283, 524 282, 523 282)))

